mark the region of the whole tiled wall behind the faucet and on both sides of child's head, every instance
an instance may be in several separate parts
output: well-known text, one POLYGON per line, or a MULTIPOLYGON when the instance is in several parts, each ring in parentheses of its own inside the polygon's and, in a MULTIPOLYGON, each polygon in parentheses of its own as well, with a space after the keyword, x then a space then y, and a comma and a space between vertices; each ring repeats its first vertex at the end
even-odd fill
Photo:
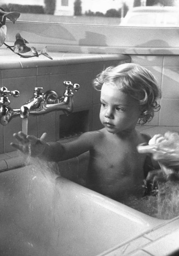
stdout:
MULTIPOLYGON (((78 58, 66 58, 65 61, 53 62, 51 66, 34 66, 27 60, 21 62, 13 69, 1 69, 0 86, 6 86, 9 90, 19 90, 20 97, 11 100, 12 108, 20 108, 30 97, 34 87, 43 87, 46 90, 56 90, 63 94, 63 81, 70 80, 80 84, 80 90, 74 92, 74 111, 89 110, 89 130, 101 127, 99 121, 100 93, 93 89, 92 80, 105 67, 117 65, 124 55, 103 55, 93 61, 81 61, 78 58)), ((124 58, 129 58, 126 56, 124 58)), ((131 55, 131 61, 148 68, 156 77, 162 90, 160 112, 156 112, 149 123, 154 126, 179 126, 179 56, 178 55, 131 55)), ((49 62, 50 63, 50 62, 49 62)), ((1 66, 0 66, 1 68, 1 66)), ((59 140, 59 115, 63 112, 52 112, 42 116, 30 116, 28 133, 41 136, 48 133, 47 141, 59 140)), ((13 141, 13 133, 22 130, 22 122, 19 117, 13 118, 8 125, 0 125, 0 153, 10 152, 14 149, 10 146, 13 141)))

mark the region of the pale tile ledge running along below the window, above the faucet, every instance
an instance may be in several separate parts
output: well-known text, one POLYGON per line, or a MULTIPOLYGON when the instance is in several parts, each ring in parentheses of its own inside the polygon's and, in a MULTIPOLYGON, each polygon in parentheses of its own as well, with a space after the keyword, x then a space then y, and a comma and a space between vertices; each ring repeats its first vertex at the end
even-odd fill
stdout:
POLYGON ((39 58, 21 58, 11 52, 8 49, 0 49, 0 69, 21 69, 21 68, 37 68, 45 66, 57 66, 68 64, 80 64, 91 62, 103 62, 110 60, 127 60, 131 58, 127 54, 99 54, 99 53, 66 53, 66 52, 48 52, 53 58, 50 60, 45 56, 39 58))

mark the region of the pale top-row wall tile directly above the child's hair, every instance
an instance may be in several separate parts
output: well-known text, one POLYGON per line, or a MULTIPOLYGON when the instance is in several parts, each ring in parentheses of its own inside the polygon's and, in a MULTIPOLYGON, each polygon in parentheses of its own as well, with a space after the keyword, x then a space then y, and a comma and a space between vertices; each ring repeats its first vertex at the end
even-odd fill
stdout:
POLYGON ((131 54, 131 62, 141 66, 163 66, 163 55, 133 55, 131 54))

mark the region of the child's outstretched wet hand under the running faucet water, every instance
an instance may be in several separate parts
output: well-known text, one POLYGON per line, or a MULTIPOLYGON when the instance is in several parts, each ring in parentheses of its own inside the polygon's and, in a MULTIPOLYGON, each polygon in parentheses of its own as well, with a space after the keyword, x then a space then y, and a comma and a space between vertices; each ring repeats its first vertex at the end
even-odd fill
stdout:
POLYGON ((13 137, 17 140, 17 143, 11 142, 11 146, 19 149, 24 154, 30 154, 32 157, 42 154, 46 146, 46 133, 43 133, 40 139, 33 135, 26 135, 23 132, 14 133, 13 137))

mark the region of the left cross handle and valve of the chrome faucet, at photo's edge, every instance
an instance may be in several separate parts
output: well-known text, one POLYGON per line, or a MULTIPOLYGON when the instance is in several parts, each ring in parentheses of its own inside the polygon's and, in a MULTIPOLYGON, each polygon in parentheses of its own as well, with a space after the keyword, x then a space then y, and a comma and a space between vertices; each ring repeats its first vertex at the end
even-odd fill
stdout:
POLYGON ((13 97, 19 97, 19 91, 8 91, 6 87, 1 87, 0 93, 0 123, 5 126, 13 117, 20 115, 20 109, 12 109, 10 107, 7 94, 13 97))

